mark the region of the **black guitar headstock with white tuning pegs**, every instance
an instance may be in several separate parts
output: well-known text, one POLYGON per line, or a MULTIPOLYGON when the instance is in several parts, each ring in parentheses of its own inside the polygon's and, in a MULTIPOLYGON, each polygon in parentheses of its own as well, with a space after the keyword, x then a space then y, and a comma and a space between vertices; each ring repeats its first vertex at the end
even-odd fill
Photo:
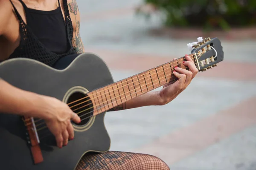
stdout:
POLYGON ((199 71, 206 71, 217 66, 218 62, 224 59, 221 42, 218 38, 198 37, 197 42, 187 44, 191 53, 196 55, 196 66, 199 71))

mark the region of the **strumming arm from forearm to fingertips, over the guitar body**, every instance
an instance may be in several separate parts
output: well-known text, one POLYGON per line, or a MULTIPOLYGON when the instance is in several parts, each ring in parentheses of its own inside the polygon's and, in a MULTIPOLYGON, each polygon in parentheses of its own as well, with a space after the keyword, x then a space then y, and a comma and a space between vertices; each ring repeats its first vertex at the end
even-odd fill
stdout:
POLYGON ((80 123, 80 117, 60 100, 21 90, 0 78, 0 113, 18 114, 44 119, 56 138, 58 147, 74 138, 71 120, 80 123))

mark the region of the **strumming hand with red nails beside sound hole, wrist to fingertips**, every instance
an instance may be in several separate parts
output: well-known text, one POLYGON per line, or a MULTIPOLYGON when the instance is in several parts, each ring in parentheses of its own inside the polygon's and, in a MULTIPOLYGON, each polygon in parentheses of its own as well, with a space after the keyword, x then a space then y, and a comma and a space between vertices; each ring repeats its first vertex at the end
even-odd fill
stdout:
POLYGON ((61 148, 67 145, 69 139, 72 140, 74 138, 71 120, 80 123, 81 119, 66 103, 48 96, 45 96, 45 99, 47 102, 47 105, 44 106, 47 107, 44 110, 47 114, 45 122, 55 136, 58 147, 61 148))

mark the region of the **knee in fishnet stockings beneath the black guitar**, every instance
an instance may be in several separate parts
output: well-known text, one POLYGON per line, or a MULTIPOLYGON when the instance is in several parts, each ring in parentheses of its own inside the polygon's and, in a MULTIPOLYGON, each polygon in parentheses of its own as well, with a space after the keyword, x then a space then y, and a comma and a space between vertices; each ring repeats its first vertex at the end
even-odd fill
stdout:
POLYGON ((76 170, 170 170, 161 159, 141 153, 108 151, 87 153, 76 170))

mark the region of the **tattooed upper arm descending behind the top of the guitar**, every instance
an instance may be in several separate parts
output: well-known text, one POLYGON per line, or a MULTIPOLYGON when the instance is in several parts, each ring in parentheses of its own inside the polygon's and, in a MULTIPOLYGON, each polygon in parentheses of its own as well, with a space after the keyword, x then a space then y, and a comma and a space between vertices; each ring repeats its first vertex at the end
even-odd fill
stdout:
POLYGON ((67 0, 70 11, 70 18, 73 23, 73 38, 72 45, 76 49, 76 53, 84 53, 84 45, 80 37, 80 12, 76 0, 67 0))

